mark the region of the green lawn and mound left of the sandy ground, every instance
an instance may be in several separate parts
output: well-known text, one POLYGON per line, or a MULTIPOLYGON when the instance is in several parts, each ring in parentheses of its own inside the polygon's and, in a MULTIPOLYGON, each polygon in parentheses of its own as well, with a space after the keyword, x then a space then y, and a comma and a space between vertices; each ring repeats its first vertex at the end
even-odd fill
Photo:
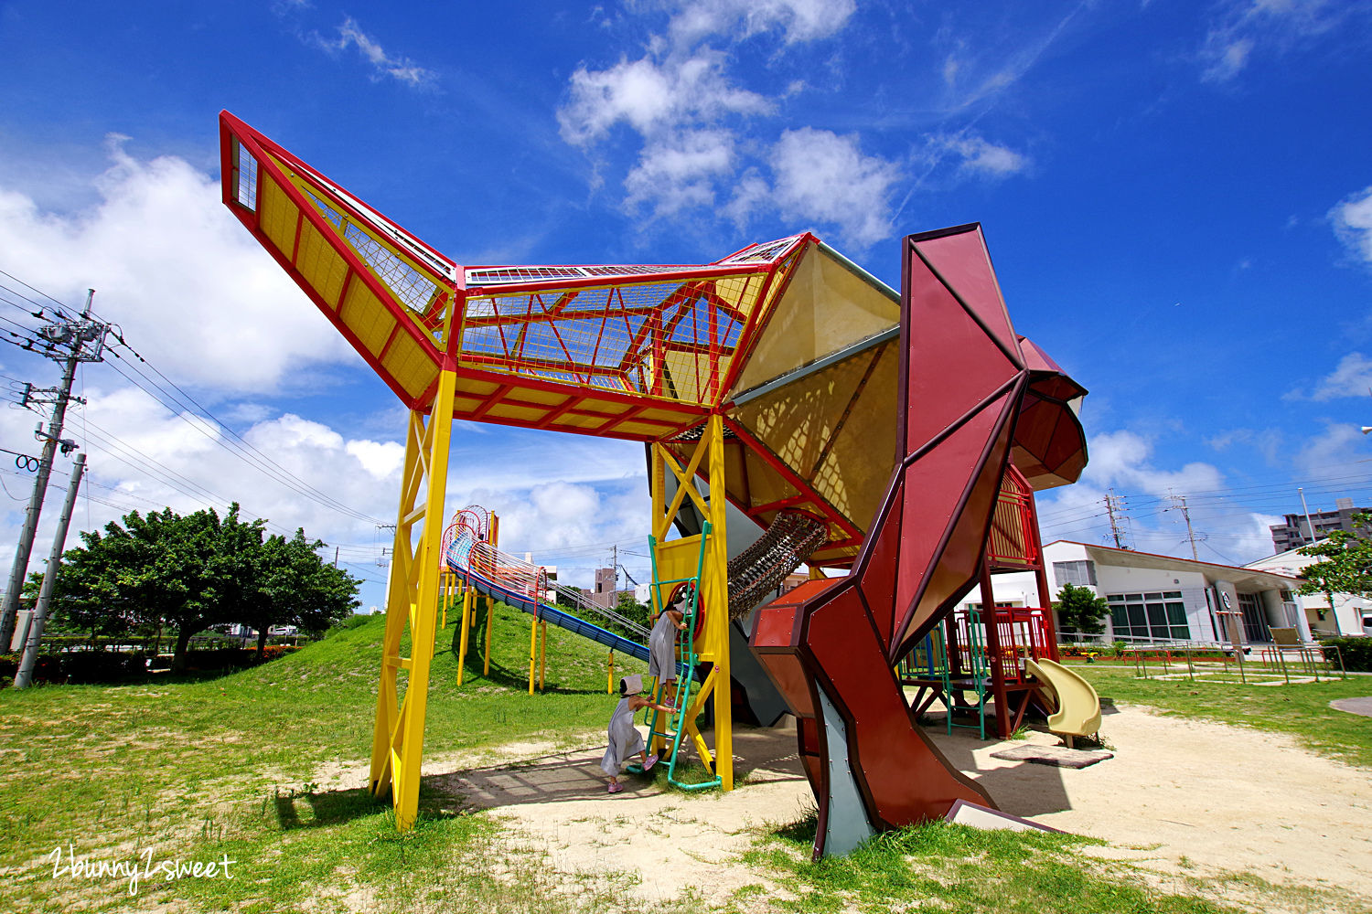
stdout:
MULTIPOLYGON (((608 652, 549 626, 547 688, 530 696, 528 622, 499 607, 490 677, 469 663, 458 688, 450 618, 432 665, 427 759, 510 741, 571 748, 600 739, 615 700, 605 693, 608 652)), ((421 828, 398 836, 388 804, 365 791, 383 626, 376 617, 217 678, 0 692, 0 910, 143 910, 173 889, 207 909, 220 906, 213 899, 269 898, 261 910, 318 910, 307 902, 321 887, 348 887, 350 874, 364 872, 365 891, 405 900, 416 873, 488 852, 494 826, 461 814, 453 798, 421 791, 421 828), (338 762, 362 774, 320 791, 316 771, 338 762), (91 858, 128 859, 148 847, 156 861, 228 852, 241 878, 144 885, 130 900, 104 884, 51 878, 43 858, 69 841, 91 858)), ((642 666, 616 655, 616 676, 642 666)), ((473 873, 491 872, 469 862, 473 873)), ((505 870, 524 878, 521 866, 505 870)), ((480 904, 487 889, 468 888, 472 910, 495 910, 480 904)))

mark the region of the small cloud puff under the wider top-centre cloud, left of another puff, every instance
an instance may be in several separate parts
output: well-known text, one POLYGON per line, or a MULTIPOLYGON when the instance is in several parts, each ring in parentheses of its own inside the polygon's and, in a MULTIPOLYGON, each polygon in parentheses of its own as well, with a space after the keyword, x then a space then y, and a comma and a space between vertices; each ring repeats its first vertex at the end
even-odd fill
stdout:
POLYGON ((624 180, 627 210, 653 204, 665 217, 715 201, 715 181, 733 173, 734 137, 726 130, 689 130, 643 147, 624 180))

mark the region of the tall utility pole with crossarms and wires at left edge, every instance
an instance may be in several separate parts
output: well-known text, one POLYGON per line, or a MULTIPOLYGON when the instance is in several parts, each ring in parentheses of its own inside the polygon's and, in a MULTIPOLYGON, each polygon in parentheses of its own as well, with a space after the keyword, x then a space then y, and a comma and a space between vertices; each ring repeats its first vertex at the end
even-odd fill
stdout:
POLYGON ((23 591, 23 578, 29 571, 29 556, 33 554, 33 534, 38 529, 38 515, 43 514, 43 499, 48 492, 48 477, 52 474, 52 459, 62 448, 62 454, 75 449, 75 441, 62 440, 62 423, 67 415, 67 403, 71 400, 71 380, 77 374, 77 366, 82 362, 99 362, 104 354, 104 336, 110 332, 108 323, 91 319, 91 301, 95 299, 95 289, 89 289, 85 307, 81 308, 81 318, 77 321, 55 321, 38 328, 38 333, 47 340, 44 355, 62 362, 62 385, 55 391, 25 389, 25 403, 40 402, 33 393, 52 393, 52 418, 48 421, 48 430, 43 426, 34 436, 43 440, 43 456, 38 459, 38 475, 33 481, 33 495, 29 497, 29 507, 23 515, 23 529, 19 533, 19 544, 14 552, 14 567, 10 569, 10 585, 5 588, 4 600, 0 602, 0 648, 8 648, 14 639, 15 619, 19 613, 19 595, 23 591))

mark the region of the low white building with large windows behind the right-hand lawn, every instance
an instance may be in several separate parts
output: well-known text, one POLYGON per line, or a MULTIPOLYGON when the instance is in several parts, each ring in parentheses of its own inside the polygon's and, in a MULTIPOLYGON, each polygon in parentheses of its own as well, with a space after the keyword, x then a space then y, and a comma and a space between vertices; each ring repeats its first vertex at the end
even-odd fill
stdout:
MULTIPOLYGON (((1246 644, 1272 641, 1269 628, 1295 628, 1310 640, 1305 614, 1297 608, 1299 581, 1273 570, 1213 565, 1087 543, 1058 540, 1043 547, 1050 586, 1089 588, 1110 602, 1103 639, 1132 643, 1190 640, 1229 643, 1218 613, 1242 613, 1246 644)), ((1039 606, 1032 571, 992 577, 997 606, 1039 606)), ((973 591, 967 600, 980 607, 973 591)), ((1061 630, 1061 626, 1059 626, 1061 630)))

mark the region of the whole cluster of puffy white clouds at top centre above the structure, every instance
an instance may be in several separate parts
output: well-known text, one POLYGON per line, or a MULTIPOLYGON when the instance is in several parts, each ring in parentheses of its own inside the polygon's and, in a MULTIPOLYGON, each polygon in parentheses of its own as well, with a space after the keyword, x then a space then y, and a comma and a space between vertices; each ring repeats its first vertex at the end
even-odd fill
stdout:
POLYGON ((707 42, 761 33, 779 33, 786 45, 826 38, 848 23, 853 0, 702 0, 654 8, 668 14, 665 34, 652 36, 638 59, 578 67, 557 114, 563 140, 593 155, 602 143, 626 136, 638 144, 624 177, 626 210, 648 210, 654 218, 712 211, 745 225, 774 208, 837 226, 863 247, 889 234, 885 197, 896 166, 862 155, 855 137, 827 132, 786 132, 777 143, 752 136, 745 143, 755 119, 774 115, 777 103, 805 84, 790 79, 777 96, 759 93, 740 85, 727 49, 707 42), (820 149, 825 137, 827 149, 820 149), (830 171, 797 175, 807 156, 830 171), (855 170, 836 171, 849 164, 855 170), (775 188, 763 178, 763 166, 771 167, 775 188), (744 180, 733 180, 741 171, 744 180), (720 203, 720 189, 730 185, 731 199, 720 203))

